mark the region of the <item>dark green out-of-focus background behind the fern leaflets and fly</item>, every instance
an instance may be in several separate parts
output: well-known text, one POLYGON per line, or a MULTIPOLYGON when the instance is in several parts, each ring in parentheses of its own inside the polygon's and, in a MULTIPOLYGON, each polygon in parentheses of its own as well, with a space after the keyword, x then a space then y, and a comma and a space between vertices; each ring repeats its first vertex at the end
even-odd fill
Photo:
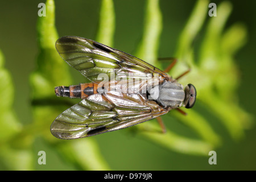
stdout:
MULTIPOLYGON (((38 4, 42 1, 2 1, 0 6, 0 49, 5 57, 5 67, 14 82, 14 111, 18 120, 24 125, 32 122, 31 87, 29 78, 36 65, 38 40, 36 21, 38 4)), ((222 1, 212 1, 218 5, 222 1)), ((163 17, 163 30, 159 41, 159 57, 175 54, 180 32, 183 30, 196 1, 160 1, 163 17)), ((56 29, 59 36, 74 35, 96 39, 101 1, 56 1, 56 29)), ((143 20, 146 1, 114 1, 115 34, 114 48, 134 54, 142 39, 143 20)), ((255 115, 255 47, 256 2, 232 1, 233 10, 225 27, 241 22, 247 30, 247 42, 235 55, 236 65, 240 69, 241 81, 238 87, 239 105, 248 113, 255 115)), ((206 22, 210 19, 207 17, 206 22)), ((204 31, 197 36, 203 39, 204 31)), ((196 44, 196 43, 195 43, 196 44)), ((196 53, 195 53, 196 54, 196 53)), ((84 78, 71 69, 73 80, 70 84, 79 84, 84 78)), ((63 73, 65 74, 65 73, 63 73)), ((223 78, 225 79, 225 78, 223 78)), ((61 85, 61 81, 60 81, 61 85)), ((58 85, 56 85, 58 86, 58 85)), ((53 88, 52 88, 52 94, 53 88)), ((2 94, 2 97, 6 97, 2 94)), ((209 98, 210 100, 211 98, 209 98)), ((197 104, 196 110, 204 106, 197 104)), ((218 106, 216 106, 218 107, 218 106)), ((203 112, 202 112, 203 113, 203 112)), ((226 128, 212 114, 203 113, 214 131, 221 135, 222 145, 214 148, 217 152, 217 165, 209 165, 209 156, 180 154, 151 143, 129 130, 93 137, 100 148, 101 155, 109 169, 114 170, 255 170, 256 169, 256 129, 251 126, 245 131, 241 140, 233 140, 226 128)), ((56 115, 57 116, 57 115, 56 115)), ((165 120, 168 121, 169 116, 165 120)), ((53 118, 54 119, 54 118, 53 118)), ((53 121, 51 118, 51 120, 53 121)), ((6 121, 1 121, 6 122, 6 121)), ((51 123, 47 121, 47 123, 51 123)), ((168 129, 175 133, 194 137, 193 131, 178 121, 165 122, 168 129)), ((50 131, 49 131, 50 132, 50 131)), ((86 140, 82 139, 82 140, 86 140)), ((64 143, 72 143, 65 140, 64 143)), ((0 146, 2 147, 2 146, 0 146)), ((1 148, 0 148, 1 150, 1 148)), ((86 151, 83 151, 86 152, 86 151)), ((13 154, 14 158, 15 155, 13 154)), ((32 169, 68 170, 81 169, 57 152, 53 145, 42 137, 36 137, 32 143, 32 169), (46 151, 47 164, 38 164, 38 151, 46 151)), ((12 169, 6 164, 5 156, 0 156, 0 169, 12 169)), ((24 161, 26 163, 26 161, 24 161)), ((22 164, 20 164, 22 166, 22 164)))

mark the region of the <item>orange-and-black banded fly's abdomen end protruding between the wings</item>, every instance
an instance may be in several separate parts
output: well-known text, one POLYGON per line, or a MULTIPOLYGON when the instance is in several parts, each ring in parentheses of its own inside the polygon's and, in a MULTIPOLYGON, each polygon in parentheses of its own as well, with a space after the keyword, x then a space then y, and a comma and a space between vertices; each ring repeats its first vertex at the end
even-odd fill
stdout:
POLYGON ((59 97, 86 98, 96 93, 97 84, 94 83, 55 87, 55 94, 59 97))

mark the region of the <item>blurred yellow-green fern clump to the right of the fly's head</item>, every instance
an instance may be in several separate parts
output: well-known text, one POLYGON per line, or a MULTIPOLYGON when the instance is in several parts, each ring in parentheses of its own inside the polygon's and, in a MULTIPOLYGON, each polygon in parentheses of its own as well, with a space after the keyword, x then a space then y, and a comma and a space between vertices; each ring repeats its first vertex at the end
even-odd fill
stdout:
POLYGON ((220 118, 234 139, 241 139, 244 129, 251 125, 251 116, 240 108, 237 101, 240 78, 234 53, 245 44, 247 35, 241 24, 223 31, 231 11, 232 5, 222 2, 218 5, 218 16, 210 19, 198 66, 204 81, 199 83, 197 80, 197 84, 201 92, 199 99, 220 118))

